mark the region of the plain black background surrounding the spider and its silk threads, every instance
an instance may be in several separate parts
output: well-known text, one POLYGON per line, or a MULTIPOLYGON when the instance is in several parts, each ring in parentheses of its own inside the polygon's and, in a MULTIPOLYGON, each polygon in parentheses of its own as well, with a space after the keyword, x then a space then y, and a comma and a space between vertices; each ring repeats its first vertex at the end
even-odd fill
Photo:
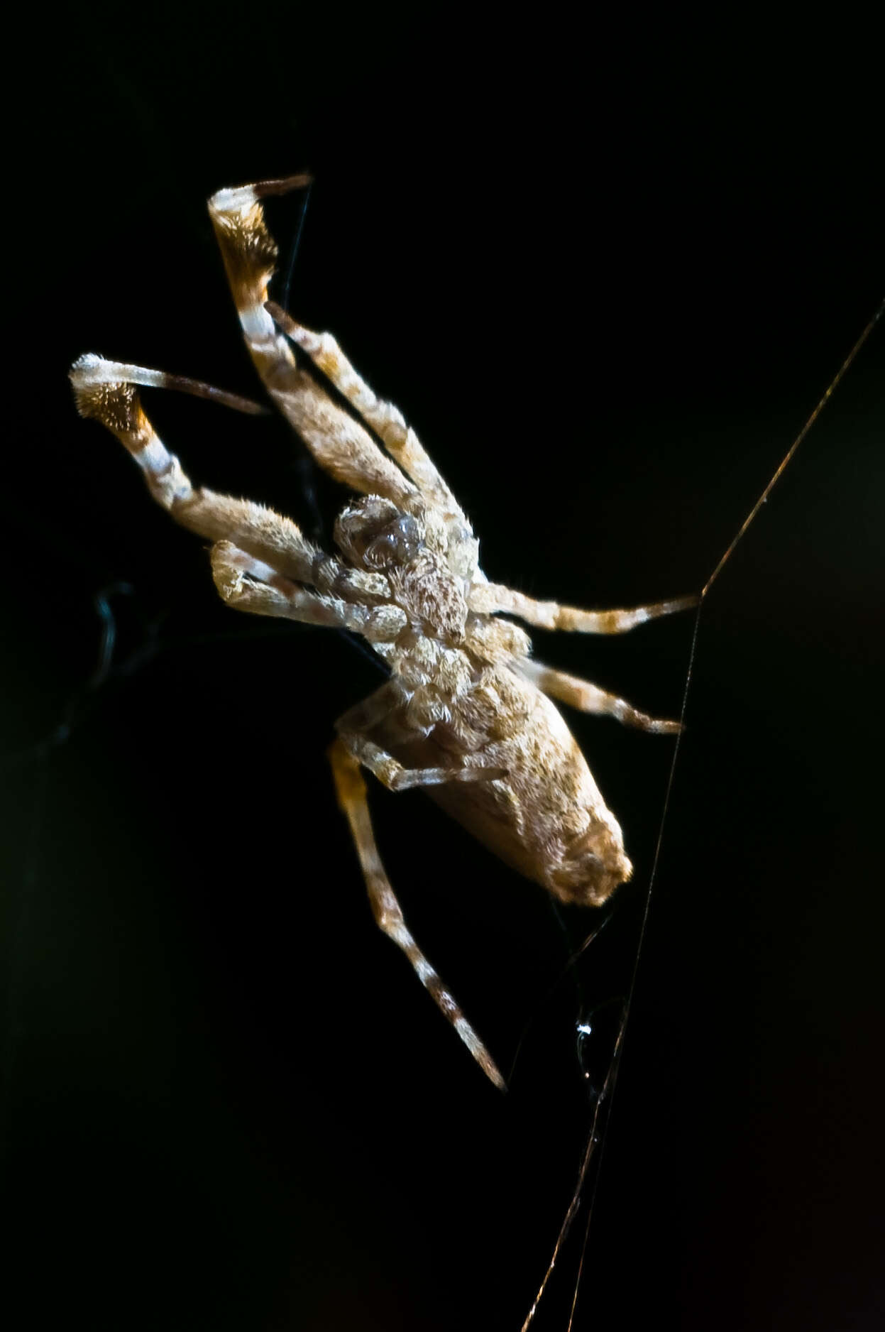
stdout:
MULTIPOLYGON (((629 984, 672 753, 574 719, 636 875, 550 1000, 591 918, 371 793, 503 1067, 532 1022, 500 1098, 377 934, 334 807, 371 662, 232 617, 68 365, 257 393, 205 198, 309 168, 289 304, 414 422, 490 577, 697 589, 882 294, 874 41, 840 15, 579 39, 560 11, 98 5, 9 35, 12 1325, 519 1328, 590 1123, 575 1020, 629 984)), ((299 206, 270 210, 285 260, 299 206)), ((704 609, 578 1328, 881 1325, 882 348, 704 609)), ((148 410, 196 480, 327 530, 279 422, 148 410)), ((535 642, 673 715, 691 630, 535 642)))

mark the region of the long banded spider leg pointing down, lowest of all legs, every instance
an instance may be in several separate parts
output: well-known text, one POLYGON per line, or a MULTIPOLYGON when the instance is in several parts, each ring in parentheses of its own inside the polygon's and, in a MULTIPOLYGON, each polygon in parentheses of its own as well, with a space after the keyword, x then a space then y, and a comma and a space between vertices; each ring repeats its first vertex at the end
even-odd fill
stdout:
POLYGON ((406 954, 415 968, 418 979, 430 991, 437 1006, 452 1024, 483 1072, 494 1082, 495 1087, 506 1091, 504 1079, 491 1055, 464 1018, 455 999, 443 986, 437 971, 427 962, 427 958, 406 926, 402 908, 397 902, 394 890, 390 886, 385 867, 381 863, 381 856, 378 855, 371 818, 369 815, 366 783, 362 779, 359 763, 347 753, 341 739, 335 741, 330 747, 329 759, 335 781, 338 803, 350 823, 357 855, 366 880, 369 902, 378 926, 406 954))

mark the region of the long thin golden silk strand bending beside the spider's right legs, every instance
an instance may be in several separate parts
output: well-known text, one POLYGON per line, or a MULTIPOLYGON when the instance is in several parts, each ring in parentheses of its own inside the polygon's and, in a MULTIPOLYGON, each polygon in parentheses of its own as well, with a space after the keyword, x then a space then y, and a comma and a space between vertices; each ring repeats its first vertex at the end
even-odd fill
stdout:
MULTIPOLYGON (((876 309, 874 314, 872 316, 872 318, 869 320, 869 322, 864 328, 862 333, 860 334, 860 337, 854 342, 854 345, 852 346, 850 352, 848 353, 848 356, 845 357, 845 360, 840 365, 838 370, 836 372, 836 374, 830 380, 829 385, 826 386, 826 389, 821 394, 821 397, 820 397, 817 405, 814 406, 813 412, 810 413, 810 416, 808 417, 808 420, 802 425, 801 430, 798 432, 798 434, 796 436, 796 438, 791 444, 789 449, 787 450, 787 453, 784 454, 784 457, 780 461, 779 466, 773 472, 771 480, 768 481, 765 489, 761 492, 761 494, 756 500, 756 503, 752 506, 752 509, 749 510, 749 513, 744 518, 743 523, 740 525, 740 527, 736 531, 736 534, 732 538, 732 541, 725 547, 723 555, 717 561, 713 571, 709 574, 709 577, 707 578, 707 582, 704 583, 704 586, 703 586, 703 589, 700 591, 699 601, 697 601, 697 611, 695 614, 695 625, 693 625, 693 630, 692 630, 691 647, 689 647, 689 653, 688 653, 688 665, 687 665, 687 669, 685 669, 685 687, 683 690, 683 702, 681 702, 681 709, 680 709, 680 713, 679 713, 680 730, 679 730, 679 733, 676 735, 676 743, 673 745, 673 755, 672 755, 672 761, 671 761, 671 765, 669 765, 669 774, 668 774, 668 778, 667 778, 667 787, 665 787, 665 791, 664 791, 664 803, 663 803, 660 823, 659 823, 659 829, 657 829, 657 839, 656 839, 656 843, 655 843, 655 855, 653 855, 653 860, 652 860, 652 868, 651 868, 651 874, 649 874, 649 878, 648 878, 648 888, 645 891, 645 904, 644 904, 644 908, 643 908, 643 918, 641 918, 641 923, 640 923, 640 928, 639 928, 639 939, 637 939, 637 944, 636 944, 636 955, 635 955, 633 970, 632 970, 631 982, 629 982, 629 990, 627 992, 627 1002, 624 1004, 624 1011, 623 1011, 623 1016, 621 1016, 620 1026, 619 1026, 619 1030, 618 1030, 618 1036, 615 1039, 615 1047, 612 1050, 612 1056, 611 1056, 611 1062, 610 1062, 610 1066, 608 1066, 608 1074, 606 1075, 606 1080, 603 1083, 603 1088, 602 1088, 602 1091, 600 1091, 600 1094, 599 1094, 599 1096, 596 1099, 596 1104, 594 1107, 594 1115, 592 1115, 592 1120, 591 1120, 591 1126, 590 1126, 590 1134, 588 1134, 588 1139, 587 1139, 587 1147, 584 1150, 584 1156, 582 1159, 580 1171, 579 1171, 579 1175, 578 1175, 578 1183, 576 1183, 575 1189, 572 1192, 571 1201, 568 1203, 568 1208, 566 1209, 566 1216, 563 1219, 563 1223, 562 1223, 562 1225, 559 1228, 559 1235, 556 1236, 556 1243, 554 1245, 554 1251, 552 1251, 550 1263, 547 1264, 547 1271, 544 1272, 544 1277, 543 1277, 543 1280, 540 1283, 540 1287, 538 1288, 538 1293, 536 1293, 536 1296, 535 1296, 535 1299, 532 1301, 532 1305, 531 1305, 531 1308, 528 1311, 526 1321, 523 1323, 522 1332, 528 1332, 528 1328, 531 1327, 531 1323, 532 1323, 532 1320, 535 1317, 538 1307, 539 1307, 539 1304, 540 1304, 540 1301, 543 1299, 544 1291, 547 1289, 547 1284, 548 1284, 548 1281, 550 1281, 550 1279, 552 1276, 554 1268, 556 1267, 556 1261, 558 1261, 559 1255, 562 1252, 563 1244, 566 1243, 566 1240, 568 1237, 568 1232, 570 1232, 570 1229, 572 1227, 572 1223, 574 1223, 574 1220, 575 1220, 575 1217, 576 1217, 576 1215, 578 1215, 578 1212, 580 1209, 582 1195, 583 1195, 584 1187, 587 1184, 587 1179, 588 1179, 588 1175, 590 1175, 590 1168, 591 1168, 591 1166, 594 1163, 594 1158, 596 1156, 596 1148, 599 1147, 599 1155, 598 1155, 598 1163, 596 1163, 598 1168, 596 1168, 596 1172, 595 1172, 595 1176, 594 1176, 594 1185, 592 1185, 592 1192, 591 1192, 591 1196, 590 1196, 590 1204, 588 1204, 588 1211, 587 1211, 587 1224, 584 1227, 584 1237, 583 1237, 583 1243, 582 1243, 580 1261, 578 1264, 578 1275, 576 1275, 576 1279, 575 1279, 575 1289, 574 1289, 574 1296, 572 1296, 572 1303, 571 1303, 571 1311, 570 1311, 570 1316, 568 1316, 568 1328, 567 1328, 567 1332, 572 1332, 572 1327, 574 1327, 575 1309, 578 1307, 578 1296, 579 1296, 579 1292, 580 1292, 582 1276, 583 1276, 583 1271, 584 1271, 584 1259, 587 1256, 587 1247, 588 1247, 588 1243, 590 1243, 590 1229, 591 1229, 592 1215, 594 1215, 594 1203, 595 1203, 595 1199, 596 1199, 596 1187, 598 1187, 598 1183, 599 1183, 599 1171, 600 1171, 600 1167, 602 1167, 602 1158, 603 1158, 603 1152, 604 1152, 604 1147, 606 1147, 607 1127, 608 1127, 608 1123, 610 1123, 610 1119, 611 1119, 611 1106, 612 1106, 612 1102, 614 1102, 615 1088, 616 1088, 616 1083, 618 1083, 618 1072, 619 1072, 619 1068, 620 1068, 620 1056, 621 1056, 621 1050, 623 1050, 623 1044, 624 1044, 624 1035, 625 1035, 625 1031, 627 1031, 627 1024, 628 1024, 628 1020, 629 1020, 629 1010, 631 1010, 631 1004, 632 1004, 632 1000, 633 1000, 633 992, 635 992, 635 988, 636 988, 636 979, 637 979, 637 975, 639 975, 639 964, 640 964, 640 959, 641 959, 643 943, 644 943, 644 939, 645 939, 645 930, 647 930, 647 926, 648 926, 648 916, 649 916, 649 912, 651 912, 652 891, 653 891, 653 887, 655 887, 655 882, 657 879, 657 866, 660 863, 660 854, 661 854, 661 847, 663 847, 663 842, 664 842, 664 829, 665 829, 667 817, 668 817, 668 813, 669 813, 669 798, 671 798, 671 793, 672 793, 673 782, 675 782, 675 777, 676 777, 676 765, 679 762, 679 753, 680 753, 681 738, 683 738, 683 727, 684 727, 684 722, 685 722, 685 713, 687 713, 687 709, 688 709, 688 697, 689 697, 689 690, 691 690, 691 683, 692 683, 692 675, 693 675, 693 670, 695 670, 695 659, 696 659, 696 650, 697 650, 697 635, 699 635, 699 630, 700 630, 700 619, 701 619, 701 611, 703 611, 704 601, 705 601, 707 594, 709 593, 711 587, 713 586, 713 583, 719 578, 720 573, 723 571, 723 569, 725 567, 725 565, 731 559, 735 549, 743 541, 743 538, 745 537, 747 531, 749 530, 749 527, 755 522, 755 519, 756 519, 760 509, 763 507, 763 505, 765 503, 765 501, 771 496, 772 490, 775 489, 775 486, 780 481, 781 476, 784 474, 784 472, 787 470, 787 468, 792 462, 793 456, 798 450, 798 446, 802 444, 802 441, 808 436, 809 430, 812 429, 812 426, 817 421, 818 416, 821 414, 821 412, 824 410, 824 408, 826 406, 826 404, 832 398, 833 393, 836 392, 836 389, 841 384, 841 381, 845 377, 846 372, 850 369, 853 361, 858 356, 858 353, 860 353, 861 348, 864 346, 864 344, 868 341, 870 333, 876 328, 876 324, 878 322, 878 320, 881 318, 881 316, 882 316, 884 312, 885 312, 885 300, 882 300, 880 302, 880 305, 876 309), (600 1118, 602 1118, 603 1106, 607 1106, 607 1114, 606 1114, 604 1122, 602 1123, 602 1127, 600 1127, 600 1118)), ((582 952, 584 947, 586 947, 586 944, 582 946, 582 948, 579 950, 579 952, 582 952)))

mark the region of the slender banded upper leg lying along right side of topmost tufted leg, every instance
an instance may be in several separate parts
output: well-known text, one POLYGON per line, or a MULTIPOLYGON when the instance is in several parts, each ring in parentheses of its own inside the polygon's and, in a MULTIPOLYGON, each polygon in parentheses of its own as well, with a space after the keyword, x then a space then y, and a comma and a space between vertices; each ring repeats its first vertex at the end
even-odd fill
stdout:
POLYGON ((402 412, 393 402, 378 398, 353 368, 331 333, 311 333, 297 324, 279 305, 267 301, 267 313, 303 352, 318 370, 338 389, 363 418, 403 472, 411 477, 425 498, 450 518, 466 522, 463 509, 437 470, 418 436, 406 425, 402 412))

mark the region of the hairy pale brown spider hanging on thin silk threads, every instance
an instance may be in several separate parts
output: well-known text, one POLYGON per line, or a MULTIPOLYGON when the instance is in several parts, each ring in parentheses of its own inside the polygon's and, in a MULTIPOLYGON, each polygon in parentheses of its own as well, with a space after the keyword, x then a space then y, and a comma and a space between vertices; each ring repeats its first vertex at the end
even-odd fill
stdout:
POLYGON ((317 462, 358 493, 339 513, 339 555, 290 519, 248 500, 194 488, 146 418, 137 385, 184 388, 242 410, 254 404, 140 366, 83 356, 71 370, 77 409, 125 445, 153 498, 213 542, 212 571, 234 609, 362 634, 390 678, 335 723, 329 750, 377 923, 496 1087, 486 1046, 410 934, 373 835, 361 769, 389 790, 429 794, 506 863, 562 902, 599 906, 631 875, 621 830, 578 743, 551 702, 606 713, 657 734, 676 722, 531 657, 542 629, 620 634, 695 597, 632 610, 578 610, 487 581, 464 511, 399 410, 375 397, 329 334, 315 334, 267 300, 277 248, 261 200, 306 177, 222 189, 209 200, 252 358, 265 389, 317 462), (350 412, 293 350, 338 390, 350 412), (379 446, 383 445, 383 449, 379 446))

